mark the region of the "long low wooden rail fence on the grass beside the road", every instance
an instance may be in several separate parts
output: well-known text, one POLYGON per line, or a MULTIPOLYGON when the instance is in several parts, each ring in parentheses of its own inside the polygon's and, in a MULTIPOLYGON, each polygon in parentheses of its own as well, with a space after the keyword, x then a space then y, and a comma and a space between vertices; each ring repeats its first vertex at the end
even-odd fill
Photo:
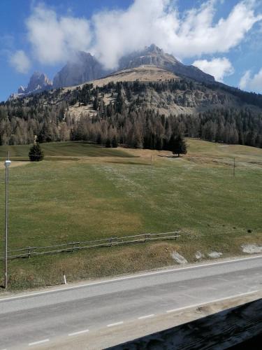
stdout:
MULTIPOLYGON (((104 239, 96 239, 94 241, 73 241, 70 243, 57 244, 54 246, 28 246, 27 248, 14 249, 8 251, 8 259, 15 258, 31 258, 35 255, 49 255, 57 253, 66 253, 80 251, 82 249, 119 246, 123 244, 141 243, 147 241, 156 241, 164 239, 177 239, 180 231, 163 232, 163 233, 145 233, 142 235, 133 235, 126 237, 110 237, 104 239), (49 250, 48 250, 49 249, 49 250), (12 254, 13 253, 13 254, 12 254)), ((1 256, 0 260, 4 257, 1 256)))

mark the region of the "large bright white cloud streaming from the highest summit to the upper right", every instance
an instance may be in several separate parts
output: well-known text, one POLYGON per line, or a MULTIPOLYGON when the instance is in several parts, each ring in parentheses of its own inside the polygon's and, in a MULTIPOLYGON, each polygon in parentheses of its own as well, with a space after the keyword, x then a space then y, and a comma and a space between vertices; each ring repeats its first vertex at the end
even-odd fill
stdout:
POLYGON ((171 0, 135 0, 127 10, 97 13, 92 18, 96 55, 115 68, 122 55, 150 43, 181 58, 227 52, 262 16, 254 14, 252 1, 240 1, 214 23, 216 2, 180 14, 171 0))

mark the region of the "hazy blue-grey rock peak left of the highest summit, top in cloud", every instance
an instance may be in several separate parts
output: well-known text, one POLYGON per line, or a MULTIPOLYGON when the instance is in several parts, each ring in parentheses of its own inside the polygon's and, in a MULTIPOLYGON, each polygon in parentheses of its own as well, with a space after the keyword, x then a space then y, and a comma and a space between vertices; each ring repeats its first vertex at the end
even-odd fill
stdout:
POLYGON ((74 62, 68 62, 54 76, 53 87, 66 87, 95 80, 108 74, 97 59, 87 52, 78 52, 74 62))

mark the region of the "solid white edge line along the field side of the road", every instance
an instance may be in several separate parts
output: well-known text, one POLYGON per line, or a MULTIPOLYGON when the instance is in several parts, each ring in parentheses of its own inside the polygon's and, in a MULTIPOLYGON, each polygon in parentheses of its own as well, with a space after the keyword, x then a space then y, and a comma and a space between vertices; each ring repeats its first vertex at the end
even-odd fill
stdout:
MULTIPOLYGON (((175 268, 175 269, 164 269, 164 270, 161 270, 161 271, 146 272, 145 274, 133 274, 131 276, 119 277, 117 279, 108 279, 108 280, 105 280, 105 281, 80 284, 80 286, 71 286, 71 287, 66 287, 66 288, 57 288, 57 289, 52 289, 52 290, 44 290, 43 292, 28 293, 28 294, 24 294, 24 295, 17 295, 15 297, 3 297, 3 298, 0 297, 0 302, 5 302, 5 301, 8 301, 8 300, 13 300, 13 299, 20 299, 22 297, 34 297, 34 296, 37 296, 37 295, 43 295, 43 294, 49 294, 49 293, 57 293, 57 292, 65 291, 65 290, 85 288, 85 287, 89 287, 89 286, 97 286, 97 285, 103 284, 103 283, 112 283, 112 282, 117 282, 117 281, 124 281, 126 279, 137 279, 137 278, 140 278, 140 277, 154 276, 155 274, 168 274, 169 272, 182 271, 182 270, 186 270, 186 269, 198 269, 198 268, 201 268, 201 267, 208 267, 208 266, 213 266, 213 265, 228 264, 228 263, 232 263, 232 262, 254 260, 254 259, 260 259, 260 258, 262 258, 262 255, 256 255, 256 256, 249 257, 249 258, 238 258, 238 259, 232 259, 232 260, 208 262, 208 263, 201 264, 201 265, 180 267, 180 268, 175 268)), ((259 273, 256 273, 256 274, 260 275, 259 273)))

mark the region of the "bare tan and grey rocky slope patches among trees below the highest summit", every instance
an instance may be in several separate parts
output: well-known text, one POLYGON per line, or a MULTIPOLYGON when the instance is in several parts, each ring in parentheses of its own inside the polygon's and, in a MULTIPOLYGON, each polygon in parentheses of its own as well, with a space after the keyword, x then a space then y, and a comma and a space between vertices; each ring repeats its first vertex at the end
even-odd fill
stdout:
MULTIPOLYGON (((122 71, 117 71, 115 73, 101 78, 98 80, 92 80, 89 84, 94 85, 94 87, 105 87, 109 83, 120 83, 120 82, 141 82, 141 83, 164 83, 172 81, 184 81, 188 85, 185 87, 180 84, 177 86, 175 91, 170 91, 165 89, 164 91, 157 91, 154 86, 147 85, 147 88, 143 92, 133 94, 129 104, 136 101, 138 96, 143 99, 140 103, 140 107, 143 106, 145 109, 154 109, 165 116, 171 114, 194 114, 201 111, 206 111, 210 108, 219 107, 239 107, 240 102, 238 99, 228 92, 224 92, 219 87, 216 91, 206 88, 202 83, 195 82, 191 79, 183 79, 174 73, 161 69, 156 66, 142 65, 130 69, 123 69, 122 71), (189 88, 187 88, 189 87, 189 88)), ((85 84, 72 86, 67 89, 72 91, 82 88, 85 84)), ((102 98, 102 95, 99 95, 102 98)), ((123 92, 123 97, 126 100, 126 94, 123 92)), ((115 102, 116 94, 112 92, 108 94, 103 94, 103 102, 105 105, 110 102, 115 102)), ((80 116, 96 115, 96 111, 93 108, 93 102, 91 104, 82 105, 78 101, 72 106, 69 106, 68 111, 71 116, 75 118, 80 118, 80 116)))

